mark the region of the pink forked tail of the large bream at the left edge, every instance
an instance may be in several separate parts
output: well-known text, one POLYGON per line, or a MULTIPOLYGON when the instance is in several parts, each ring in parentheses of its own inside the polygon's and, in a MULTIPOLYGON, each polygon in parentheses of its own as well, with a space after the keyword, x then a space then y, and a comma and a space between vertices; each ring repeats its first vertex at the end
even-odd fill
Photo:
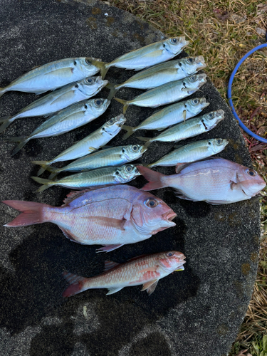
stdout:
POLYGON ((41 224, 46 221, 43 217, 43 208, 53 207, 48 204, 22 200, 4 200, 2 203, 11 206, 11 208, 22 211, 22 214, 19 214, 19 216, 16 216, 14 220, 4 225, 7 227, 41 224))

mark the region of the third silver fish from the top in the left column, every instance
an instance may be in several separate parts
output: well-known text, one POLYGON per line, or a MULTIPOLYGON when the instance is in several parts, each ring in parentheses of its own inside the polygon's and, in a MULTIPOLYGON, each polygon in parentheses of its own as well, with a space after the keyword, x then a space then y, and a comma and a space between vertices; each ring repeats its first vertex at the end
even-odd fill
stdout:
POLYGON ((95 120, 108 109, 109 105, 110 100, 101 98, 80 101, 77 104, 70 105, 68 108, 57 112, 56 115, 52 115, 48 120, 37 127, 31 135, 5 137, 5 140, 9 142, 19 142, 19 145, 12 152, 14 156, 29 140, 33 138, 63 135, 70 130, 74 130, 77 127, 95 120))

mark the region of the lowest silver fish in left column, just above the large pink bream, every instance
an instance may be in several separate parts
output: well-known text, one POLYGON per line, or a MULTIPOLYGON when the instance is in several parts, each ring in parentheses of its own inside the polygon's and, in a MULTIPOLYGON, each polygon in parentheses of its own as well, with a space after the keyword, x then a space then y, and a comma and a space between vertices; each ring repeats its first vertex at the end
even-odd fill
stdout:
POLYGON ((140 175, 140 172, 133 164, 126 164, 122 167, 100 167, 88 172, 72 174, 58 180, 31 177, 35 182, 43 184, 37 192, 58 185, 70 189, 85 189, 90 187, 103 187, 108 184, 123 184, 130 182, 140 175))

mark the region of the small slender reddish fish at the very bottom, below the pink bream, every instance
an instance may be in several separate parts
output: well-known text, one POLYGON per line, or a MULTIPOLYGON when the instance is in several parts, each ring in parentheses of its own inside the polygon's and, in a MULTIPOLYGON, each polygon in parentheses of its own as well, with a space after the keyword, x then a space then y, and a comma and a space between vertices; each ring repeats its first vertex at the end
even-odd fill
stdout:
POLYGON ((118 292, 124 287, 143 285, 148 295, 154 292, 160 278, 173 271, 183 271, 185 256, 178 251, 142 255, 125 263, 105 261, 105 270, 99 276, 84 278, 73 273, 63 273, 70 286, 63 297, 70 297, 87 289, 108 288, 107 294, 118 292))

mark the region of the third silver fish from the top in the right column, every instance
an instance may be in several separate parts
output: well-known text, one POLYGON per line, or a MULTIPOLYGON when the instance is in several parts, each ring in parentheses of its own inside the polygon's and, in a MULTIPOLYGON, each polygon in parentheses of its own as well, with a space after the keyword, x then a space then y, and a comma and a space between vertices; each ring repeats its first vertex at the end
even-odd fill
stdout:
POLYGON ((115 98, 115 100, 123 104, 124 114, 129 105, 157 108, 158 106, 167 105, 186 98, 199 90, 205 83, 206 74, 194 74, 184 79, 159 85, 159 87, 148 90, 132 100, 122 100, 119 98, 115 98))

